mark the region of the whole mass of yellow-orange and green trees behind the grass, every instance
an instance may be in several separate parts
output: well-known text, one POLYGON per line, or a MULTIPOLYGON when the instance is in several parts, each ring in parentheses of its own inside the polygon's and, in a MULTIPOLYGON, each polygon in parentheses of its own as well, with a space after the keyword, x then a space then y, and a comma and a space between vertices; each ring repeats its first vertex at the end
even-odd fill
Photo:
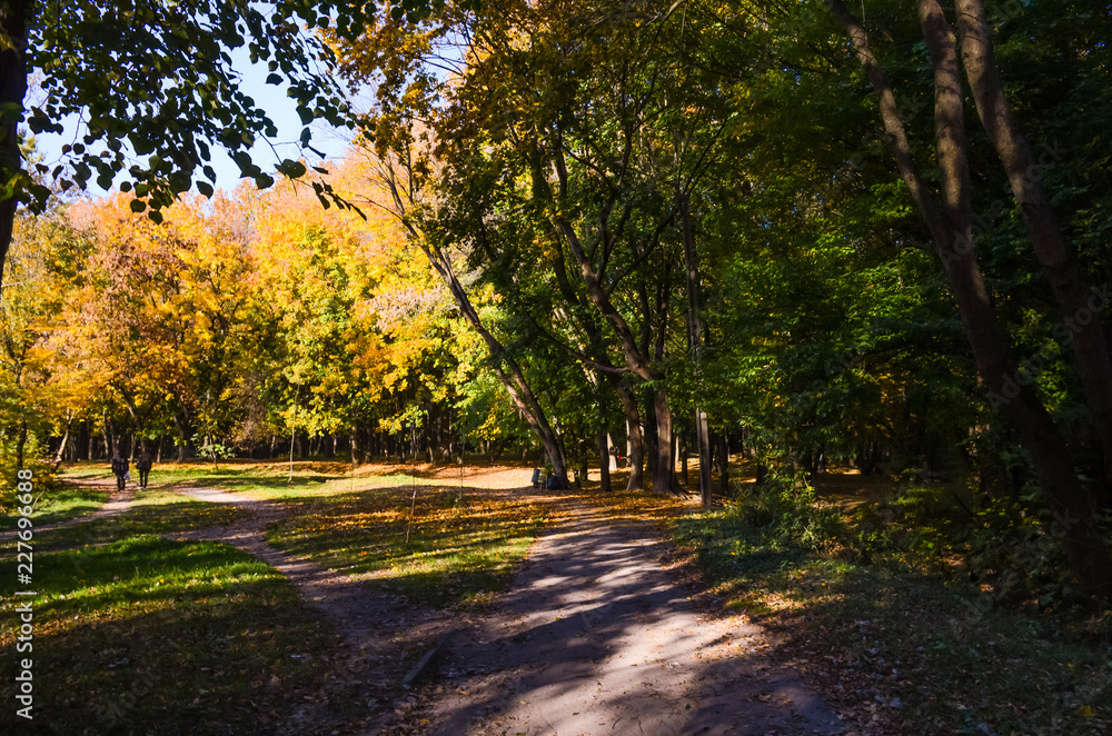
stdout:
MULTIPOLYGON (((232 12, 206 8, 189 22, 232 12)), ((110 153, 75 150, 99 161, 82 181, 177 152, 143 148, 126 191, 19 221, 6 457, 131 435, 353 461, 466 445, 568 481, 597 467, 603 488, 620 455, 627 487, 658 493, 698 457, 707 500, 739 459, 794 484, 853 466, 940 484, 924 493, 1001 557, 1058 535, 1045 564, 1109 591, 1102 3, 279 10, 242 10, 216 42, 277 54, 304 121, 353 121, 358 143, 316 185, 185 193, 206 147, 242 150, 270 121, 226 67, 119 96, 105 76, 105 107, 81 109, 110 153), (319 79, 298 53, 327 62, 319 79), (369 109, 349 117, 340 89, 369 109), (160 137, 146 121, 167 116, 160 137)), ((51 28, 58 48, 99 32, 51 28)), ((168 69, 189 49, 226 63, 142 28, 128 38, 168 69)), ((107 63, 40 56, 61 64, 57 100, 107 63)))

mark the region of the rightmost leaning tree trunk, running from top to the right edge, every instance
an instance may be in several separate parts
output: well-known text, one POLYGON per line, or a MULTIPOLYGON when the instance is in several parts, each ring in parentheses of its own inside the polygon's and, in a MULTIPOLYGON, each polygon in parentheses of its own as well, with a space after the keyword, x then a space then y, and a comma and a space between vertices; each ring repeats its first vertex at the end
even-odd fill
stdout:
POLYGON ((954 4, 962 39, 962 61, 976 111, 1004 165, 1035 257, 1046 273, 1069 330, 1060 337, 1073 344, 1085 402, 1103 456, 1104 477, 1112 480, 1112 360, 1104 329, 1096 318, 1109 297, 1094 295, 1085 284, 1076 256, 1051 209, 1031 147, 1004 97, 984 4, 981 0, 955 0, 954 4))

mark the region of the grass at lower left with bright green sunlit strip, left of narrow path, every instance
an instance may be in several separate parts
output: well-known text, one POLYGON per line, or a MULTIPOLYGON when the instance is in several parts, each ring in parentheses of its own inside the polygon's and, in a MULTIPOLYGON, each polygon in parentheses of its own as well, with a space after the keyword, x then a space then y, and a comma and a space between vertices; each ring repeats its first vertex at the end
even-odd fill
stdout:
MULTIPOLYGON (((330 733, 332 706, 366 702, 329 679, 339 640, 320 615, 230 546, 148 536, 37 553, 34 587, 36 722, 18 733, 330 733)), ((0 650, 14 653, 2 589, 0 650)), ((9 704, 0 730, 14 718, 9 704)))

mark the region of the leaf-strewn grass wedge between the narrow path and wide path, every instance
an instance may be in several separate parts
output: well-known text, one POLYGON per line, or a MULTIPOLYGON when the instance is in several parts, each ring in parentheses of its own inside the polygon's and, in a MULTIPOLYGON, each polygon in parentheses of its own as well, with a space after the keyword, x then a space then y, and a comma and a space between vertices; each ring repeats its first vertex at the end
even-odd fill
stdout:
POLYGON ((336 496, 271 526, 267 541, 391 593, 455 607, 502 590, 548 516, 513 493, 423 487, 410 526, 411 501, 407 487, 336 496))

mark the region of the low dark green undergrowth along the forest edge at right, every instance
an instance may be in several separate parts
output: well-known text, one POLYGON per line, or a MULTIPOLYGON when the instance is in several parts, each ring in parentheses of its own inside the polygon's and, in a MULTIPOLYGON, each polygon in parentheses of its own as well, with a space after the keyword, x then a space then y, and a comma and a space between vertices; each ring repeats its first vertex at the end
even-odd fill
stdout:
MULTIPOLYGON (((759 486, 737 487, 726 514, 777 546, 976 584, 1002 604, 1046 609, 1091 603, 1073 581, 1037 491, 993 499, 953 485, 909 487, 845 513, 818 499, 804 473, 773 471, 759 486)), ((1100 521, 1112 537, 1112 515, 1100 521)))

